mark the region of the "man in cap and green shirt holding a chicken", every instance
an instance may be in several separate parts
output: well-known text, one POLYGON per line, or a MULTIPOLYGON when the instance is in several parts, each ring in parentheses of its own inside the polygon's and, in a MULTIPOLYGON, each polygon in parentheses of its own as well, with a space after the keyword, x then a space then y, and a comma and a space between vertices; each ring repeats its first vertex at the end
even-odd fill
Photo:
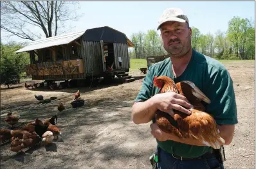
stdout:
POLYGON ((213 115, 225 145, 233 139, 237 124, 237 109, 233 83, 228 70, 219 61, 192 49, 192 29, 188 18, 179 8, 169 8, 163 12, 158 29, 161 31, 163 47, 170 57, 149 67, 143 80, 142 89, 132 108, 135 124, 151 124, 151 134, 158 143, 159 161, 157 168, 223 168, 212 147, 197 140, 180 140, 174 134, 167 134, 154 123, 157 109, 172 115, 177 109, 188 115, 191 105, 178 93, 160 93, 153 86, 154 76, 169 76, 175 83, 187 80, 195 85, 211 100, 206 112, 213 115))

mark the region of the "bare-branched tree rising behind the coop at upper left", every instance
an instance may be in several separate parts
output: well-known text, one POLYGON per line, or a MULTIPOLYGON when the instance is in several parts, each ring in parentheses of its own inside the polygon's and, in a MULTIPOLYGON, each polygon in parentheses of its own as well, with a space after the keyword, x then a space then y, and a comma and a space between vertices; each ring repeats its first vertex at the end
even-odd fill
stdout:
MULTIPOLYGON (((41 38, 35 33, 39 28, 46 38, 56 36, 67 20, 77 20, 75 10, 71 10, 70 1, 2 1, 1 31, 10 36, 35 40, 41 38)), ((66 26, 66 25, 65 25, 66 26)))

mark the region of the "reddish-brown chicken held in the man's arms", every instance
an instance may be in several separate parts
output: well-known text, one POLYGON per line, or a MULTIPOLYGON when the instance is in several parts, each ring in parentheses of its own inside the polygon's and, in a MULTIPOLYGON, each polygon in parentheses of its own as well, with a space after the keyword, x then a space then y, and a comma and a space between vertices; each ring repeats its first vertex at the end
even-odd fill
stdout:
POLYGON ((190 109, 191 115, 181 113, 174 109, 174 118, 169 113, 156 111, 155 118, 158 127, 165 133, 172 133, 181 140, 193 138, 201 143, 220 149, 224 145, 225 140, 219 135, 216 122, 212 115, 205 112, 206 104, 210 104, 210 99, 197 88, 191 81, 174 81, 167 76, 154 77, 154 86, 160 88, 160 93, 175 92, 185 96, 194 108, 190 109), (174 126, 173 122, 177 122, 178 126, 174 126))

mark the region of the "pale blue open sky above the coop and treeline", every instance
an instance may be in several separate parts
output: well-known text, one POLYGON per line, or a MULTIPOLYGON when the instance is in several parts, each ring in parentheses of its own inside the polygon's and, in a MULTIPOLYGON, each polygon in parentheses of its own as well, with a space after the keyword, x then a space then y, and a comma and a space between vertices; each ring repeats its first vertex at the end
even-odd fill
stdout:
MULTIPOLYGON (((80 1, 82 14, 76 22, 69 22, 75 31, 100 26, 110 26, 131 38, 133 33, 156 30, 158 19, 166 8, 181 8, 187 15, 190 26, 203 34, 214 34, 218 29, 226 31, 228 21, 234 16, 255 20, 255 1, 80 1)), ((31 29, 34 29, 33 27, 31 29)), ((42 31, 40 32, 42 35, 42 31)), ((159 33, 159 31, 158 31, 159 33)), ((1 41, 24 42, 21 38, 5 38, 1 32, 1 41)), ((29 42, 29 41, 28 41, 29 42)))

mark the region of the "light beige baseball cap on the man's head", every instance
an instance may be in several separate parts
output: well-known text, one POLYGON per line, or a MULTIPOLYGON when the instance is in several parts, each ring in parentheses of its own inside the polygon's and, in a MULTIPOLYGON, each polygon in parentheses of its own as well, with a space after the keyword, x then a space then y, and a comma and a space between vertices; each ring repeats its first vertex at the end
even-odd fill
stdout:
POLYGON ((188 22, 188 18, 179 8, 167 8, 163 11, 163 13, 160 16, 160 19, 158 20, 158 29, 160 29, 161 24, 168 21, 177 21, 184 23, 188 22))

